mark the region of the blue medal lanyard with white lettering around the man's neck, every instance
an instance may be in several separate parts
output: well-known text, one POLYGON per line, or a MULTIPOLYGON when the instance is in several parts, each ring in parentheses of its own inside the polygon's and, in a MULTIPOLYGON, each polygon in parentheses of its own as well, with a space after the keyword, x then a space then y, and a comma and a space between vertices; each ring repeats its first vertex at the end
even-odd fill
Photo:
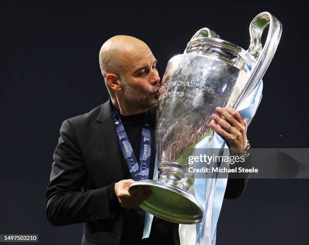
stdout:
POLYGON ((151 153, 151 135, 149 125, 147 124, 147 113, 145 115, 144 125, 140 141, 139 164, 137 163, 129 138, 125 132, 122 121, 117 110, 113 106, 113 116, 118 136, 118 143, 126 160, 132 179, 135 181, 148 179, 150 153, 151 153))

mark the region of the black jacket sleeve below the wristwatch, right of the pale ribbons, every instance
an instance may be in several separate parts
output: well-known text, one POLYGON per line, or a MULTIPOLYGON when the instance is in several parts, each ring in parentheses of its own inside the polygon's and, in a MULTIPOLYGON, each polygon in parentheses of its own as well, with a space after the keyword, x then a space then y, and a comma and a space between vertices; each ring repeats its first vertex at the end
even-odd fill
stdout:
MULTIPOLYGON (((231 168, 239 167, 237 164, 230 165, 231 168)), ((252 156, 251 154, 245 159, 245 168, 252 167, 252 156)), ((238 198, 246 189, 249 180, 249 173, 229 173, 229 178, 227 181, 227 186, 224 194, 224 198, 236 199, 238 198)))

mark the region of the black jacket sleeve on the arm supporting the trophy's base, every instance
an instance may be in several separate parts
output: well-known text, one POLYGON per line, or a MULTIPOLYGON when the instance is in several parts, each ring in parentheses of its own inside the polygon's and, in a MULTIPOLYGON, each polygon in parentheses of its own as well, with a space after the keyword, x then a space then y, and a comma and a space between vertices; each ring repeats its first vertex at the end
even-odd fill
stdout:
MULTIPOLYGON (((54 226, 114 217, 111 205, 116 195, 108 194, 115 183, 95 190, 82 191, 87 169, 73 126, 65 120, 54 153, 50 181, 46 191, 46 216, 54 226)), ((115 200, 116 198, 116 200, 115 200)))

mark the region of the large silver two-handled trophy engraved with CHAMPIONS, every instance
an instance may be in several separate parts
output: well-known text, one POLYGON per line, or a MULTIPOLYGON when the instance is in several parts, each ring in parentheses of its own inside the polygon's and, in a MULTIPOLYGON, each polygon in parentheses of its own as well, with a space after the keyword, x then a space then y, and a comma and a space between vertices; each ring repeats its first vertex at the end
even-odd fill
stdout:
POLYGON ((202 28, 183 54, 169 60, 157 108, 159 180, 140 180, 130 187, 151 188, 152 195, 140 205, 150 214, 181 224, 201 221, 203 207, 187 192, 194 175, 184 152, 213 133, 209 123, 217 106, 237 108, 265 74, 280 40, 281 23, 264 12, 252 20, 249 31, 251 43, 244 50, 202 28), (261 36, 268 26, 263 48, 261 36))

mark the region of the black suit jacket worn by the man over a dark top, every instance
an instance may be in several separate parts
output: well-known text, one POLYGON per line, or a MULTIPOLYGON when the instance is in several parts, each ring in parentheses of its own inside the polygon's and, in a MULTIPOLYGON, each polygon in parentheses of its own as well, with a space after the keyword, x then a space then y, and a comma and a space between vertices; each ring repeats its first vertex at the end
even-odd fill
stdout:
MULTIPOLYGON (((155 116, 155 108, 149 109, 149 116, 155 116)), ((150 126, 152 134, 154 129, 150 126)), ((83 245, 119 244, 124 220, 121 212, 111 211, 107 190, 124 179, 120 154, 111 100, 65 120, 46 192, 50 223, 84 223, 83 245)), ((150 164, 149 178, 153 168, 150 164)), ((230 198, 240 195, 246 182, 233 183, 227 188, 230 198)), ((178 230, 171 235, 177 244, 178 230)))

